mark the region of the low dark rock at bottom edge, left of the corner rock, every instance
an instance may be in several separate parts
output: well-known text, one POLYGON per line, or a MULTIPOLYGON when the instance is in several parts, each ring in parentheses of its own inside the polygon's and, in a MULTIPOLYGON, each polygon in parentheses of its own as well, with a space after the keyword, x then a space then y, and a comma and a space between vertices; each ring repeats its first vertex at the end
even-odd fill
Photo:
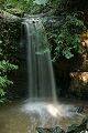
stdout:
POLYGON ((65 131, 63 129, 61 129, 59 126, 56 127, 36 127, 36 131, 38 133, 65 133, 65 131))

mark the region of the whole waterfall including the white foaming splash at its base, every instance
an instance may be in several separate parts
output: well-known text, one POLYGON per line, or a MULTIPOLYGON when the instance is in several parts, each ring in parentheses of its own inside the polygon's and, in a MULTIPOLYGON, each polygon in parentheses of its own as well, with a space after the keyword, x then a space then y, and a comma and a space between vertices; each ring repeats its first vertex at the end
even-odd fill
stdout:
POLYGON ((72 106, 63 106, 56 101, 51 51, 38 18, 31 17, 22 22, 22 43, 26 45, 29 99, 21 111, 30 116, 29 132, 35 133, 37 126, 59 125, 61 117, 73 115, 72 106))

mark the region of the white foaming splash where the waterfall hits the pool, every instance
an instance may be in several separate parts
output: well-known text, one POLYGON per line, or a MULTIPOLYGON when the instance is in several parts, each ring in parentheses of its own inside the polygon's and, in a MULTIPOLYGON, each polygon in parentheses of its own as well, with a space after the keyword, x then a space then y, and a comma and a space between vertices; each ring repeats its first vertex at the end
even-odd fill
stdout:
POLYGON ((76 109, 72 105, 65 104, 52 104, 46 102, 31 102, 26 103, 22 108, 23 112, 38 114, 42 119, 47 117, 62 117, 75 114, 76 109))

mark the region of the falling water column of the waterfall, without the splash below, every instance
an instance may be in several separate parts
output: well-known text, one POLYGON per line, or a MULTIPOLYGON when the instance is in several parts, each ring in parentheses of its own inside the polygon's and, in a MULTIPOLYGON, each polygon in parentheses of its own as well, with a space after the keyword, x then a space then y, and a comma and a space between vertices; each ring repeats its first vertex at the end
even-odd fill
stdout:
POLYGON ((56 101, 51 51, 42 21, 24 19, 22 29, 28 52, 29 99, 56 101))

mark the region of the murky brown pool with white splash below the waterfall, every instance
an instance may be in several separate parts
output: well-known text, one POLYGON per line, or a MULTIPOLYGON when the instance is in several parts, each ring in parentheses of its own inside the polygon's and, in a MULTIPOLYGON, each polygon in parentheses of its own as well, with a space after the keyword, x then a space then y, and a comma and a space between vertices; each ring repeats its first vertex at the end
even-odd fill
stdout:
POLYGON ((73 123, 80 123, 88 112, 77 113, 77 106, 87 102, 61 101, 30 102, 20 101, 0 106, 0 133, 36 133, 35 127, 61 125, 67 129, 73 123))

